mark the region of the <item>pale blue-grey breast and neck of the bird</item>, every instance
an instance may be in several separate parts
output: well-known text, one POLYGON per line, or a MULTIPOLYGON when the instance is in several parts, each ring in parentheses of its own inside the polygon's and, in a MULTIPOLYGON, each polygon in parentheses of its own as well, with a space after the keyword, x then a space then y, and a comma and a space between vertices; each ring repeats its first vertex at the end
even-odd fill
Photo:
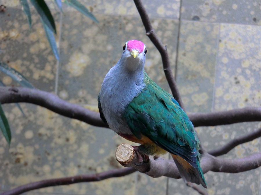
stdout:
POLYGON ((100 91, 102 112, 110 128, 116 133, 132 134, 123 118, 123 112, 143 88, 143 71, 128 74, 113 66, 107 73, 100 91))

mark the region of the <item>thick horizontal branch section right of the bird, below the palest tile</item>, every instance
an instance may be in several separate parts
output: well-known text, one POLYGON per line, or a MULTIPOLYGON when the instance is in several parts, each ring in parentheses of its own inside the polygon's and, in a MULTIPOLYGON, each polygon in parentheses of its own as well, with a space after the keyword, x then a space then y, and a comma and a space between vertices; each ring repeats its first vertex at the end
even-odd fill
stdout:
POLYGON ((246 107, 228 111, 188 114, 194 127, 229 125, 238 122, 261 121, 260 107, 246 107))

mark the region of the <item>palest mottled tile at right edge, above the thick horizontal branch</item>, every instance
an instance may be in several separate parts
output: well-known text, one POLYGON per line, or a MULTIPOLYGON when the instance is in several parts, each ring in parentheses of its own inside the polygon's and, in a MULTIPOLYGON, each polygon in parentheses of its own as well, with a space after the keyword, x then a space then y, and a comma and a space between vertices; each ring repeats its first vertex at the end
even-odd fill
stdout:
POLYGON ((261 27, 222 24, 215 110, 260 106, 261 27))

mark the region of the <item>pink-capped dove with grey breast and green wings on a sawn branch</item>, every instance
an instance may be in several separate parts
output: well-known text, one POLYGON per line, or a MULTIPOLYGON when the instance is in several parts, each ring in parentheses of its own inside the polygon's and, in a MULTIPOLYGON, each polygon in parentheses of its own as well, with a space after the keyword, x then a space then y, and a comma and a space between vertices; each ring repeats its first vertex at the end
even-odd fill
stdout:
POLYGON ((182 179, 207 187, 200 167, 200 141, 179 103, 144 70, 146 45, 129 40, 106 74, 98 96, 102 121, 135 143, 142 155, 170 153, 182 179))

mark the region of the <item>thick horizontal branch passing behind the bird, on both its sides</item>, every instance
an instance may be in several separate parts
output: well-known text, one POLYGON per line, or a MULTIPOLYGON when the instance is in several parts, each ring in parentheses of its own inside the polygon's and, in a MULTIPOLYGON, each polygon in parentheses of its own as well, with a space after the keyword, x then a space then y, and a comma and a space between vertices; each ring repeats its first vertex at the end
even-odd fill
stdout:
MULTIPOLYGON (((0 87, 0 102, 27 102, 40 105, 63 116, 75 118, 98 127, 106 127, 99 113, 68 103, 54 94, 28 88, 0 87)), ((228 125, 238 122, 261 121, 261 108, 250 107, 229 111, 188 114, 194 127, 228 125)))

